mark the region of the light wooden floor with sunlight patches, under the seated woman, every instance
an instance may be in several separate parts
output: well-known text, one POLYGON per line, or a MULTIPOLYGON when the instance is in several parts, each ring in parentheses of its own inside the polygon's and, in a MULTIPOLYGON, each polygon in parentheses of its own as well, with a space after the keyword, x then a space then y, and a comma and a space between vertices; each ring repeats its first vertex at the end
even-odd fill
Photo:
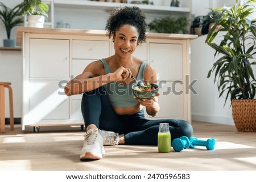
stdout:
POLYGON ((41 127, 39 133, 20 126, 0 134, 0 170, 256 170, 256 133, 237 132, 234 126, 192 122, 193 137, 215 138, 212 151, 204 147, 180 153, 158 153, 156 146, 105 146, 101 160, 81 162, 80 128, 41 127))

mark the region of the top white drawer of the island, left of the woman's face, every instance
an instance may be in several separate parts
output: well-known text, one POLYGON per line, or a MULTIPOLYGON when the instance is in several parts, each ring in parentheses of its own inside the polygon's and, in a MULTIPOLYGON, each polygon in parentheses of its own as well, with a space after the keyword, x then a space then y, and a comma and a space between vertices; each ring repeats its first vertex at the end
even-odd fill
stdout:
POLYGON ((73 59, 93 59, 110 56, 110 41, 100 40, 73 40, 72 58, 73 59))

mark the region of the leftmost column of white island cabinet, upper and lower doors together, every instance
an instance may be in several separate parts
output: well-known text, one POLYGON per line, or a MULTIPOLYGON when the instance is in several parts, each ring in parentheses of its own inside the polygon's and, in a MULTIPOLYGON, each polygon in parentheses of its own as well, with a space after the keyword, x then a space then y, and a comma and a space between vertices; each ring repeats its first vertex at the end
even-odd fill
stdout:
POLYGON ((24 53, 23 129, 68 120, 69 98, 59 83, 69 78, 69 40, 26 36, 24 53))

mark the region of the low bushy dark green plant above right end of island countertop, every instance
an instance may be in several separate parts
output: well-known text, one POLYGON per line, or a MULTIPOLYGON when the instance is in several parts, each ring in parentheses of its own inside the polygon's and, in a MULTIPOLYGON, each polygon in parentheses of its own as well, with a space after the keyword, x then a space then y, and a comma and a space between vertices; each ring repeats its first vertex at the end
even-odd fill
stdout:
POLYGON ((166 16, 164 18, 155 19, 148 24, 148 28, 158 33, 188 33, 189 21, 187 18, 172 18, 166 16))

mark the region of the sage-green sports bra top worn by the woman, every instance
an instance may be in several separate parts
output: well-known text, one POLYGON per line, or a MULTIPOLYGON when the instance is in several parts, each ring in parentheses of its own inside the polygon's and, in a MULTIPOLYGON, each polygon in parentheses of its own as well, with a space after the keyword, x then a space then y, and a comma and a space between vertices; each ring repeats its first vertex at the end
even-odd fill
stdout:
MULTIPOLYGON (((105 58, 102 58, 101 62, 104 65, 105 74, 112 73, 109 69, 109 65, 107 64, 105 58)), ((137 79, 144 80, 143 75, 146 65, 147 62, 143 61, 141 66, 139 67, 137 79)), ((137 105, 138 101, 134 99, 133 89, 131 88, 131 86, 132 84, 123 85, 117 82, 105 84, 110 103, 114 107, 132 107, 133 105, 137 105)))

